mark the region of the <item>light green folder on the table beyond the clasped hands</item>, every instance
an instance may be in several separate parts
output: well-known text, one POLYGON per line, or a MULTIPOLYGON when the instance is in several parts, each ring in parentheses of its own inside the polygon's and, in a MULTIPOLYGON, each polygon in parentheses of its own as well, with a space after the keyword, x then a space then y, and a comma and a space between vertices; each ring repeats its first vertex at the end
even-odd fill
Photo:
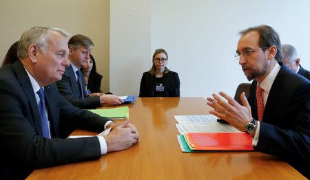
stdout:
POLYGON ((88 111, 110 119, 125 119, 129 117, 128 106, 111 109, 89 109, 88 111))

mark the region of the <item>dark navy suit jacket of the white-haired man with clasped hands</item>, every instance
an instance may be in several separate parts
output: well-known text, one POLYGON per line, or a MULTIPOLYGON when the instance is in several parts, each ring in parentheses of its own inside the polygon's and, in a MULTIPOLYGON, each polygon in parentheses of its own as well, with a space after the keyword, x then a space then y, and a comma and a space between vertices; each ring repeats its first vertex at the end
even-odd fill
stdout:
POLYGON ((0 69, 0 179, 24 179, 32 170, 101 157, 97 137, 63 138, 63 125, 103 131, 106 118, 72 106, 56 85, 45 89, 52 139, 42 137, 30 79, 18 60, 0 69))

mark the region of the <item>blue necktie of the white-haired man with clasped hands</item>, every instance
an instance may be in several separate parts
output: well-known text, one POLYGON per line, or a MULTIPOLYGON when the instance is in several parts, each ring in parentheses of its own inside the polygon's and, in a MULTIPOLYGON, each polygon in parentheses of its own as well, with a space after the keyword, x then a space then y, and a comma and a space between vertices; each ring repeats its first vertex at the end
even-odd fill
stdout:
POLYGON ((46 111, 45 111, 44 90, 42 87, 39 91, 37 91, 37 94, 39 95, 39 98, 40 98, 39 116, 40 116, 41 131, 43 133, 43 137, 50 138, 50 130, 48 128, 48 117, 46 116, 46 111))

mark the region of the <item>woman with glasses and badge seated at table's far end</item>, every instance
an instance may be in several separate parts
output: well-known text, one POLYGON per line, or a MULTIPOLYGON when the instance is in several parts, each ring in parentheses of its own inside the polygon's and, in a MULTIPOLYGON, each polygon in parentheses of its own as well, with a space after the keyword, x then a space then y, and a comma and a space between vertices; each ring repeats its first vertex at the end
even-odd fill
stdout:
POLYGON ((180 97, 180 79, 166 67, 167 60, 165 49, 156 49, 151 69, 143 73, 139 97, 180 97))

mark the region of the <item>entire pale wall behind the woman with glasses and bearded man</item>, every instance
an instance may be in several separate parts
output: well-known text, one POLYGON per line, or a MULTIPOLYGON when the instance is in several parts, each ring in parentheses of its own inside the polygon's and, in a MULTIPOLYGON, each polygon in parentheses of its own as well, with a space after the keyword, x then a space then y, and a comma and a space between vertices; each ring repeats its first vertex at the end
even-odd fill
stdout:
POLYGON ((142 72, 151 67, 154 50, 162 47, 169 54, 167 67, 180 76, 181 96, 205 97, 218 91, 234 95, 238 84, 247 82, 234 58, 238 32, 260 24, 274 27, 282 43, 294 45, 302 66, 310 69, 309 7, 309 1, 280 0, 113 1, 111 91, 138 94, 142 72))

